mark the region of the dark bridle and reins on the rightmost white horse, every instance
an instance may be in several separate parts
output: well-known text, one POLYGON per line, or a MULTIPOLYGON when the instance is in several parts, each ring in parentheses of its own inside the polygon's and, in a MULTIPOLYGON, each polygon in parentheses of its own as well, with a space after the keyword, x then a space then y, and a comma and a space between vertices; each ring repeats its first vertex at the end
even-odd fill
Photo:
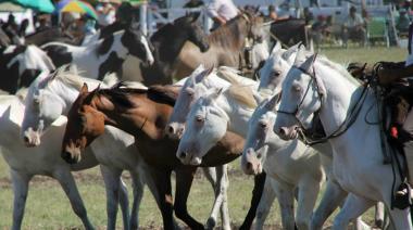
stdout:
MULTIPOLYGON (((317 93, 318 93, 318 100, 320 100, 320 103, 322 104, 323 103, 323 99, 324 99, 324 94, 320 91, 320 86, 317 85, 317 81, 316 81, 316 76, 315 76, 315 71, 314 71, 314 61, 315 61, 315 58, 316 55, 314 56, 313 59, 313 63, 312 63, 312 66, 313 66, 313 74, 309 73, 306 69, 303 69, 301 67, 296 67, 298 68, 299 71, 301 71, 302 73, 309 75, 311 77, 311 80, 309 81, 309 85, 306 87, 306 90, 305 90, 305 93, 304 95, 302 97, 300 103, 298 103, 296 110, 293 112, 287 112, 287 111, 277 111, 277 113, 281 113, 281 114, 287 114, 287 115, 291 115, 295 117, 295 119, 298 122, 299 124, 299 129, 297 130, 299 132, 299 136, 300 138, 302 139, 302 141, 306 144, 306 145, 314 145, 314 144, 318 144, 318 143, 324 143, 326 141, 328 141, 329 139, 333 139, 333 138, 337 138, 341 135, 343 135, 356 120, 360 112, 361 112, 361 108, 363 107, 363 104, 365 102, 365 99, 367 98, 367 89, 368 89, 368 85, 371 84, 371 80, 372 78, 367 81, 367 84, 364 86, 363 88, 363 91, 361 93, 361 95, 359 97, 358 99, 358 102, 354 104, 354 106, 351 108, 350 111, 350 114, 348 115, 348 117, 341 123, 341 125, 334 131, 331 132, 330 135, 328 136, 325 136, 323 138, 320 138, 317 140, 314 140, 312 136, 312 133, 304 128, 304 126, 302 125, 301 120, 299 119, 299 117, 297 116, 297 114, 299 113, 300 111, 300 107, 306 97, 306 94, 309 93, 309 90, 310 90, 310 86, 312 84, 315 84, 315 87, 317 88, 317 93)), ((322 106, 320 106, 320 108, 317 111, 314 112, 314 114, 318 114, 320 111, 321 111, 322 106)), ((315 116, 315 115, 314 115, 315 116)))

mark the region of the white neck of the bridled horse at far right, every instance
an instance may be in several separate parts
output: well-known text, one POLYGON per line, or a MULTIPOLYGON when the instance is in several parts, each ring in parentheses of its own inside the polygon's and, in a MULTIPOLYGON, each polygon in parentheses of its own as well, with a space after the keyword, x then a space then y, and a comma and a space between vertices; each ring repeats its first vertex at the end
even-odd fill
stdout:
MULTIPOLYGON (((352 82, 349 76, 342 76, 337 71, 317 63, 315 65, 316 74, 327 91, 320 117, 326 133, 329 135, 346 120, 349 111, 358 102, 363 89, 352 82)), ((364 117, 362 113, 359 117, 364 117)))

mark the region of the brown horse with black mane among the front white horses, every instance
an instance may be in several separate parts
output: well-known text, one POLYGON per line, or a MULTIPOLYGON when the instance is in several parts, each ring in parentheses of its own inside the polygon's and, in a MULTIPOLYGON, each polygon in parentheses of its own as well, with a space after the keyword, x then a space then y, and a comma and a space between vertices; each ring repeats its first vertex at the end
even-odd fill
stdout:
MULTIPOLYGON (((139 154, 148 163, 148 176, 154 182, 157 203, 161 209, 164 229, 173 229, 173 207, 178 218, 192 229, 203 229, 187 212, 187 197, 197 170, 196 166, 183 165, 175 153, 178 141, 164 135, 164 127, 178 93, 177 87, 152 87, 149 90, 112 89, 88 92, 85 85, 68 113, 63 138, 62 157, 68 163, 80 158, 80 152, 102 135, 104 125, 112 125, 138 140, 139 154), (176 200, 173 206, 171 173, 176 174, 176 200)), ((243 139, 228 132, 202 161, 202 166, 212 167, 237 158, 242 150, 243 139)), ((255 189, 254 189, 255 190, 255 189)), ((260 189, 258 189, 260 190, 260 189)), ((254 202, 260 199, 254 200, 254 202)), ((252 205, 255 212, 256 204, 252 205)), ((250 227, 254 215, 249 215, 245 228, 250 227)))

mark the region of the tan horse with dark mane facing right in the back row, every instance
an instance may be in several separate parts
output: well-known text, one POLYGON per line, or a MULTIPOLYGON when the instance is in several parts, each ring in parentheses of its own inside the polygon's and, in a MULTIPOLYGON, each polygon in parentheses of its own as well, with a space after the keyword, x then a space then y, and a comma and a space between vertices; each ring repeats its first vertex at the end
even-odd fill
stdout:
POLYGON ((262 23, 263 17, 242 12, 209 35, 210 49, 206 52, 202 53, 193 43, 186 42, 175 62, 173 77, 184 78, 200 64, 205 67, 226 65, 241 69, 245 65, 246 40, 260 42, 263 39, 262 23))

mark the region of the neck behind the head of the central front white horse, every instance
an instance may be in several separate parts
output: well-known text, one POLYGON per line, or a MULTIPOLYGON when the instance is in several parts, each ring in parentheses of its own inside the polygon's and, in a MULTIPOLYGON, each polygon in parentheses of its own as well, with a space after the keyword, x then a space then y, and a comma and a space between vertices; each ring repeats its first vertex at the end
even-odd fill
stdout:
POLYGON ((228 122, 228 130, 243 138, 247 138, 248 122, 250 120, 253 110, 246 108, 235 99, 226 93, 217 99, 217 105, 230 118, 228 122))

